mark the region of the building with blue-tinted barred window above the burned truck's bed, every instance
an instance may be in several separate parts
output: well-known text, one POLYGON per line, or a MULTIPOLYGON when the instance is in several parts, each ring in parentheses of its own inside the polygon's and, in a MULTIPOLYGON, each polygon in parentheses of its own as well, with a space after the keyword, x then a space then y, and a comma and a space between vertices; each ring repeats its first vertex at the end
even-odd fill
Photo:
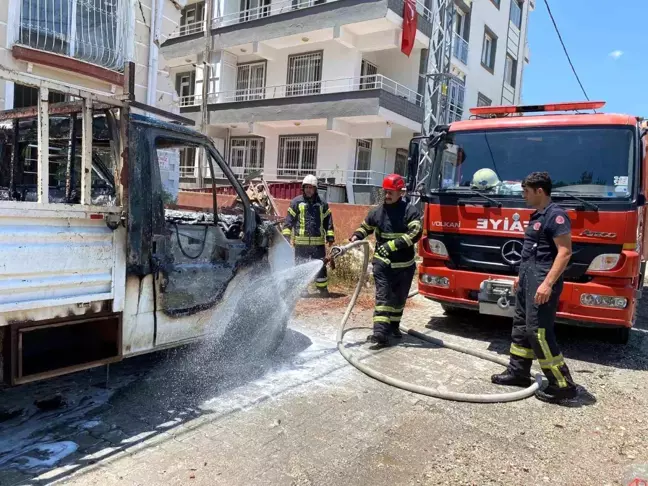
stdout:
MULTIPOLYGON (((134 61, 137 101, 172 109, 175 86, 159 44, 177 30, 185 0, 3 0, 0 65, 119 96, 134 61)), ((50 101, 64 101, 50 93, 50 101)), ((35 106, 36 90, 0 81, 0 109, 35 106)), ((177 109, 176 109, 177 111, 177 109)))

